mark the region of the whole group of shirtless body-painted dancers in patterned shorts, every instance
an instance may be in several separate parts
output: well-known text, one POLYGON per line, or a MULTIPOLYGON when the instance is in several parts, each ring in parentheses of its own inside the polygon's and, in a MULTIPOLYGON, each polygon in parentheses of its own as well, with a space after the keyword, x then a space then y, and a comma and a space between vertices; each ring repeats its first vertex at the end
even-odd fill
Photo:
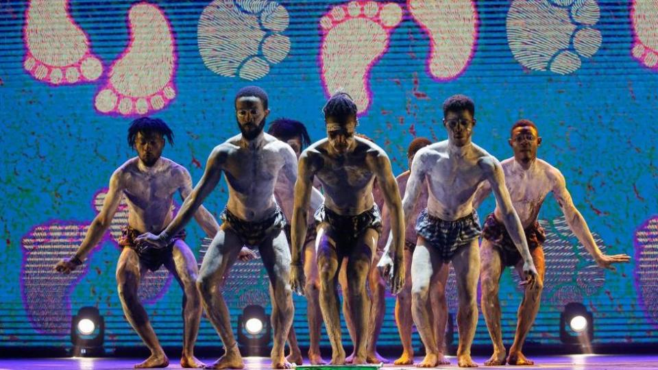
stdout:
POLYGON ((459 298, 457 361, 460 367, 476 367, 470 348, 478 320, 478 277, 480 306, 493 342, 493 355, 485 365, 533 364, 522 354, 522 345, 539 310, 544 284, 545 235, 537 217, 548 193, 600 267, 613 269, 614 263, 630 259, 625 254, 602 254, 573 204, 563 175, 537 158, 541 137, 531 121, 513 124, 509 137, 513 157, 499 162, 472 143, 473 101, 464 95, 449 97, 443 103, 448 140, 430 143, 415 138, 407 153, 409 171, 394 177, 385 151, 356 134, 357 108, 348 94, 339 92, 328 99, 322 109, 327 137, 313 144, 304 125, 290 119, 273 121, 265 134, 268 105, 261 88, 238 91, 234 106, 241 133, 212 149, 194 188, 183 166, 162 157, 165 142, 173 143, 167 124, 149 117, 133 121, 127 139, 138 156, 112 173, 103 208, 82 245, 71 258, 56 264, 62 273, 79 267, 125 198, 129 213, 119 240, 123 249, 117 288, 127 321, 151 351, 135 367, 169 365, 137 294, 141 275, 162 265, 183 289, 182 367, 242 369, 243 358, 221 295, 222 282, 237 259, 254 258, 252 249, 258 249, 270 282, 271 365, 289 369, 291 362, 302 363, 291 328, 293 291, 308 299, 311 364, 325 363, 319 349, 322 321, 332 347, 330 364, 385 361, 376 343, 387 279, 397 294, 395 320, 402 342, 402 356, 395 364, 413 364, 412 320, 426 352, 417 366, 450 363, 444 356, 443 338, 448 318, 445 288, 452 263, 459 298), (222 175, 229 196, 219 225, 202 204, 222 175), (184 202, 174 214, 177 192, 184 202), (496 209, 480 227, 476 208, 490 193, 496 197, 496 209), (185 243, 184 226, 192 217, 212 238, 200 270, 185 243), (498 301, 505 267, 514 267, 524 285, 509 351, 502 343, 498 301), (350 356, 341 341, 337 284, 343 291, 343 314, 354 345, 350 356), (225 349, 212 365, 204 365, 193 354, 202 306, 225 349), (286 341, 291 348, 287 357, 286 341))

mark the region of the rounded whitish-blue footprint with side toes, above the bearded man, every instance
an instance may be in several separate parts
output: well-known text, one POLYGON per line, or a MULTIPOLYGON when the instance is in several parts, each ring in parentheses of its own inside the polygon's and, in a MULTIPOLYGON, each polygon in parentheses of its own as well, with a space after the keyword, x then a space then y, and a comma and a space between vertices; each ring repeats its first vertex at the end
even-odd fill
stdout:
POLYGON ((215 0, 199 18, 197 42, 206 67, 218 75, 253 81, 282 62, 290 40, 289 14, 276 1, 215 0))

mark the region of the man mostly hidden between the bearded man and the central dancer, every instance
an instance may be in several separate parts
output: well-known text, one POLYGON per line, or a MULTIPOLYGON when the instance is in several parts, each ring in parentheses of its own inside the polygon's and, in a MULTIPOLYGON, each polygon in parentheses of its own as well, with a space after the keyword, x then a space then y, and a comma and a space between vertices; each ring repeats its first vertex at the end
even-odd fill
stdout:
MULTIPOLYGON (((304 123, 295 121, 293 119, 276 119, 269 125, 267 133, 284 143, 288 143, 297 158, 300 158, 302 149, 310 145, 310 136, 306 131, 304 123)), ((279 175, 274 188, 274 197, 276 201, 284 210, 286 219, 292 221, 293 219, 293 202, 295 199, 290 197, 289 189, 293 188, 295 184, 288 182, 286 178, 279 175)), ((319 193, 314 192, 310 199, 310 207, 315 211, 324 200, 319 193)), ((308 230, 306 231, 306 241, 304 242, 304 275, 306 279, 306 286, 304 286, 304 293, 306 295, 306 319, 308 320, 308 336, 310 339, 310 347, 308 347, 308 360, 312 365, 325 365, 325 360, 320 356, 320 329, 322 325, 322 314, 320 312, 320 304, 318 301, 319 295, 319 276, 317 275, 317 260, 315 259, 315 221, 313 221, 313 214, 310 214, 308 230)), ((291 243, 290 225, 286 225, 286 238, 288 243, 291 243)), ((297 344, 297 336, 293 326, 288 333, 288 344, 290 346, 291 354, 288 355, 289 362, 295 362, 297 365, 302 365, 302 351, 297 344)))

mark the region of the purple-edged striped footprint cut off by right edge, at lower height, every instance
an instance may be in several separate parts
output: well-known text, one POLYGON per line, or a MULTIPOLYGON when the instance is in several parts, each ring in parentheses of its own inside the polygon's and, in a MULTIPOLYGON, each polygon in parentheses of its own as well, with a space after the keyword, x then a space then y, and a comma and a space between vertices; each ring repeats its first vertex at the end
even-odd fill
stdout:
POLYGON ((645 221, 636 231, 633 238, 635 246, 635 290, 639 301, 655 328, 658 328, 658 270, 656 256, 658 255, 658 216, 645 221))

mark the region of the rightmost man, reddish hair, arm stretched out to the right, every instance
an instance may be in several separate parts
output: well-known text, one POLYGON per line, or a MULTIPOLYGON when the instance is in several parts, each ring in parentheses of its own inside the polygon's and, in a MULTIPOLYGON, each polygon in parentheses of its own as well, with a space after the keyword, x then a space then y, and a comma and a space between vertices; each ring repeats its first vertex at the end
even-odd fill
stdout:
MULTIPOLYGON (((533 365, 534 363, 525 358, 521 350, 526 335, 537 316, 541 290, 544 287, 544 251, 541 245, 546 240, 546 236, 544 229, 537 222, 537 216, 548 193, 553 193, 570 229, 589 251, 589 254, 594 257, 598 266, 614 270, 613 263, 630 260, 630 257, 625 254, 606 256, 598 249, 585 219, 574 206, 562 173, 544 160, 537 159, 537 147, 541 145, 541 137, 539 137, 534 123, 525 119, 517 121, 512 126, 509 145, 514 151, 514 156, 502 161, 502 170, 512 204, 521 219, 528 247, 530 247, 539 275, 535 289, 526 288, 519 306, 519 321, 514 343, 509 349, 509 356, 505 358, 505 347, 502 344, 500 333, 498 286, 505 267, 515 267, 517 271, 521 271, 522 260, 509 234, 499 221, 503 219, 503 213, 500 206, 496 206, 496 210, 489 214, 485 221, 480 246, 480 259, 482 260, 480 269, 482 300, 480 305, 493 342, 493 355, 485 362, 485 365, 505 365, 505 362, 509 365, 533 365)), ((481 188, 474 206, 477 207, 490 192, 491 188, 488 185, 481 188)))

